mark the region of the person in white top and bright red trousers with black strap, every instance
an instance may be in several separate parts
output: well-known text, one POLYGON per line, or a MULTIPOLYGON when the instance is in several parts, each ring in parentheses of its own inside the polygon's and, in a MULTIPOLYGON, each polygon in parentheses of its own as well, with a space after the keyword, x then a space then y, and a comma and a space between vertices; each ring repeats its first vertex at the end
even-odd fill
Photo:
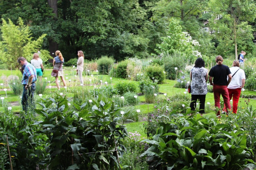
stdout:
POLYGON ((231 82, 228 84, 228 95, 230 100, 233 97, 232 112, 236 113, 239 97, 241 94, 241 88, 244 87, 245 83, 245 73, 242 69, 240 69, 240 63, 238 60, 233 61, 232 66, 233 67, 230 68, 232 79, 231 82))

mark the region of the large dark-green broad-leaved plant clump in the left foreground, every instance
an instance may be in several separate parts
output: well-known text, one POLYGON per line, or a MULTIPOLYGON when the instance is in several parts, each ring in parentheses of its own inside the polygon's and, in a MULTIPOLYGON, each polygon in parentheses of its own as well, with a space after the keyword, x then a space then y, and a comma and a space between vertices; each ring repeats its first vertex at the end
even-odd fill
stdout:
MULTIPOLYGON (((117 169, 118 158, 126 148, 122 140, 128 134, 121 120, 120 109, 114 102, 104 102, 100 98, 93 101, 92 111, 88 103, 74 106, 77 112, 69 111, 69 99, 56 97, 42 100, 43 109, 35 109, 44 117, 37 122, 46 135, 49 145, 46 151, 48 168, 53 169, 117 169), (52 105, 53 104, 53 105, 52 105)), ((123 120, 124 122, 124 120, 123 120)))

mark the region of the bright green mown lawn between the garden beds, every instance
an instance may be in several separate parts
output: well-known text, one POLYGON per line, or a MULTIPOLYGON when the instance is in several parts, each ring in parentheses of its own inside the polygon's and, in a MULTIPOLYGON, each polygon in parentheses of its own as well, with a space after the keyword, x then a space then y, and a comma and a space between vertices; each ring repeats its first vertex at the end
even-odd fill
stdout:
MULTIPOLYGON (((55 78, 51 77, 51 69, 45 70, 44 71, 44 76, 43 79, 47 78, 47 81, 50 81, 50 83, 48 83, 48 86, 56 86, 55 84, 55 78)), ((67 82, 67 93, 65 92, 64 88, 61 88, 60 91, 57 90, 57 88, 51 88, 51 89, 46 89, 45 94, 42 96, 43 98, 47 98, 47 97, 51 97, 51 94, 53 92, 58 92, 61 93, 63 92, 63 94, 66 94, 68 97, 73 97, 73 93, 70 93, 69 91, 72 88, 75 88, 74 86, 79 86, 79 77, 76 76, 75 77, 75 69, 73 68, 66 68, 64 70, 64 74, 65 74, 65 80, 67 82), (71 81, 69 81, 71 80, 71 81)), ((90 75, 84 75, 84 84, 87 84, 87 86, 84 86, 84 88, 89 88, 89 89, 93 89, 94 88, 94 82, 99 82, 99 80, 102 80, 102 82, 108 82, 108 84, 116 84, 119 81, 131 81, 131 80, 126 80, 123 78, 115 78, 113 77, 112 80, 110 79, 110 76, 108 75, 97 75, 96 72, 93 73, 93 76, 90 75), (92 86, 90 86, 90 79, 92 82, 92 86)), ((5 83, 3 88, 9 88, 8 84, 6 84, 6 78, 10 75, 19 75, 21 76, 21 73, 18 70, 0 70, 0 75, 2 76, 0 83, 5 83), (19 75, 20 74, 20 75, 19 75)), ((137 85, 139 85, 139 82, 135 82, 137 85)), ((166 97, 171 97, 175 94, 180 94, 183 95, 184 97, 189 97, 190 98, 190 94, 184 94, 185 89, 182 88, 174 88, 174 85, 176 84, 175 80, 165 80, 164 84, 160 84, 160 89, 159 92, 160 94, 158 94, 156 97, 158 100, 160 99, 164 99, 166 97), (167 96, 164 96, 163 94, 166 93, 167 96)), ((62 85, 63 86, 63 85, 62 85)), ((100 83, 98 83, 97 86, 100 86, 100 83)), ((2 88, 0 86, 0 88, 2 88)), ((245 90, 243 92, 243 96, 248 96, 248 95, 254 95, 256 96, 256 92, 252 92, 252 91, 247 91, 245 90)), ((10 104, 8 102, 15 102, 18 101, 19 105, 18 106, 13 106, 12 107, 12 111, 13 112, 19 112, 21 110, 21 106, 20 106, 20 95, 13 95, 13 92, 8 89, 7 91, 7 97, 5 94, 5 91, 0 91, 0 96, 1 97, 5 97, 4 99, 4 106, 2 107, 2 101, 1 101, 1 105, 0 105, 0 111, 5 111, 6 110, 6 106, 10 106, 10 104)), ((139 118, 139 122, 134 122, 134 123, 129 123, 126 124, 129 132, 139 132, 142 137, 146 137, 146 135, 143 132, 143 123, 144 123, 144 118, 146 118, 146 114, 150 111, 152 111, 154 109, 154 106, 156 105, 156 103, 152 103, 152 104, 146 104, 144 103, 145 101, 145 97, 144 95, 139 96, 139 100, 140 100, 140 104, 138 104, 136 106, 136 109, 140 109, 140 118, 139 118)), ((40 101, 40 97, 38 96, 38 94, 35 95, 35 101, 40 101)), ((246 101, 248 101, 248 98, 240 98, 240 102, 238 104, 238 107, 246 107, 246 101)), ((206 103, 210 102, 209 108, 212 109, 214 108, 214 97, 213 97, 213 93, 208 93, 206 95, 206 103)), ((250 99, 250 103, 249 105, 252 105, 254 108, 256 108, 256 100, 255 99, 250 99)), ((39 107, 39 106, 38 106, 39 107)), ((207 108, 206 108, 207 110, 207 108)), ((212 113, 208 113, 204 115, 205 117, 215 117, 215 114, 212 113)))

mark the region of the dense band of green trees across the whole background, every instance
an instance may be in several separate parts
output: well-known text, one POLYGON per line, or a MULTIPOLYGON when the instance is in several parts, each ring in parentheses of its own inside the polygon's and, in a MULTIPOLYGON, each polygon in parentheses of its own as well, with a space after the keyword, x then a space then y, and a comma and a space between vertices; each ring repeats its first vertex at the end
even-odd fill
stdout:
POLYGON ((0 7, 2 19, 18 25, 21 18, 31 37, 46 37, 42 49, 51 56, 60 50, 66 60, 82 50, 85 59, 117 61, 182 52, 193 62, 201 55, 236 58, 241 50, 251 58, 256 49, 251 0, 2 0, 0 7))

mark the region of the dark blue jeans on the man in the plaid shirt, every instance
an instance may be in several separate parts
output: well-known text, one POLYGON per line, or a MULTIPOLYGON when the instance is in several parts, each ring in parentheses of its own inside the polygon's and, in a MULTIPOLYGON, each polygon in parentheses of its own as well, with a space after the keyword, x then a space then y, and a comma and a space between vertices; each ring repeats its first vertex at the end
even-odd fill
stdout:
POLYGON ((34 105, 34 92, 36 90, 36 84, 33 83, 27 90, 23 86, 23 94, 21 99, 22 110, 27 112, 28 105, 34 105))

